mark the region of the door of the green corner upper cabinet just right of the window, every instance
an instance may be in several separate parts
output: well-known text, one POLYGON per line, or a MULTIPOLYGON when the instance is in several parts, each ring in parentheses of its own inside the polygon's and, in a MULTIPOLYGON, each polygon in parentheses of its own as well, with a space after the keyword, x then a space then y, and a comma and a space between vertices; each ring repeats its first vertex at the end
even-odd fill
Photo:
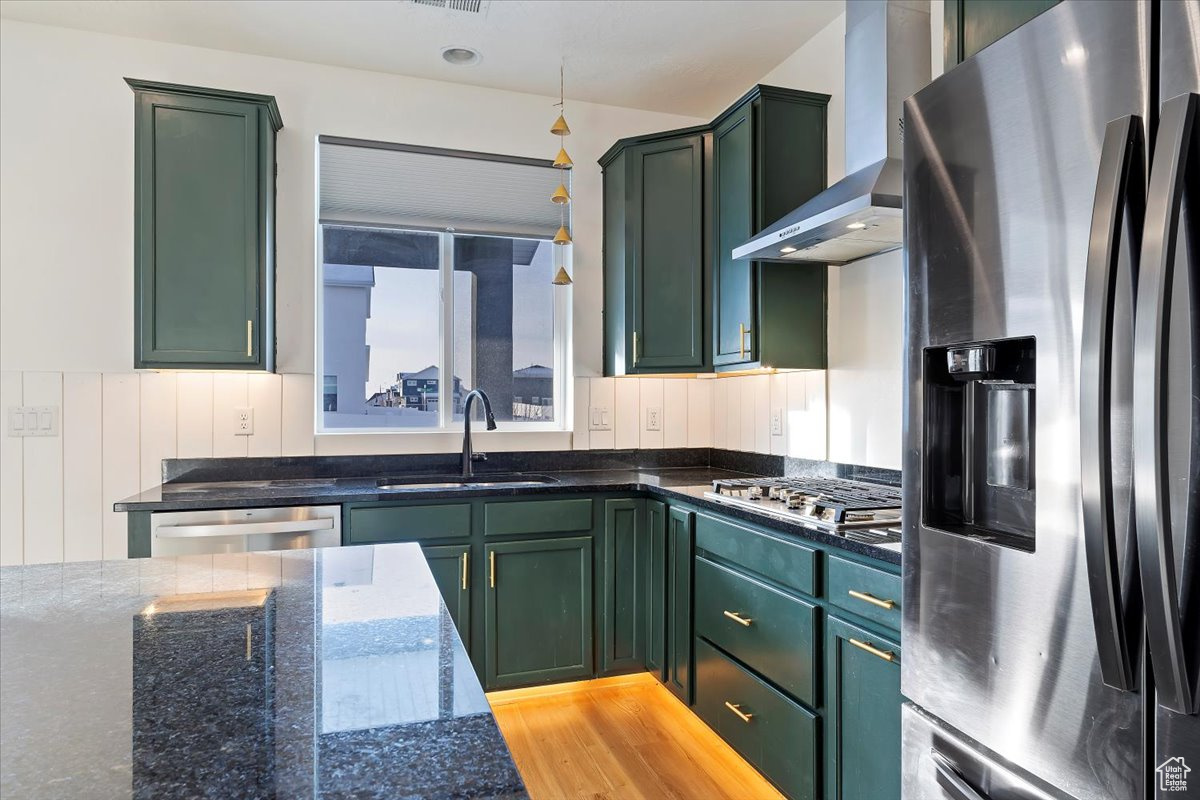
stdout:
POLYGON ((626 372, 706 366, 703 140, 694 133, 626 154, 626 372))

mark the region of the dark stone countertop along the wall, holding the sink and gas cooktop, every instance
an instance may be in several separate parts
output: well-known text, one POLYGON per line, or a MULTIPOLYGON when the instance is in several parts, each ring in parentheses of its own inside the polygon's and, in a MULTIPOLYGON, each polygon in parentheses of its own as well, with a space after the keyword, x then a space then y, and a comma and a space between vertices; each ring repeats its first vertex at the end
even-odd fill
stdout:
MULTIPOLYGON (((247 509, 286 505, 332 505, 378 500, 445 500, 478 497, 542 497, 580 492, 642 492, 664 500, 684 500, 695 506, 718 511, 784 534, 799 536, 830 547, 851 551, 868 558, 900 564, 899 545, 872 545, 846 539, 815 525, 798 524, 756 513, 750 510, 709 500, 704 492, 719 477, 744 477, 712 467, 666 469, 596 469, 578 471, 541 471, 553 483, 518 487, 442 488, 384 491, 385 477, 328 477, 256 481, 172 482, 148 489, 115 504, 116 511, 187 511, 200 509, 247 509)), ((476 471, 486 479, 487 473, 476 471)), ((403 475, 412 480, 410 474, 403 475)))

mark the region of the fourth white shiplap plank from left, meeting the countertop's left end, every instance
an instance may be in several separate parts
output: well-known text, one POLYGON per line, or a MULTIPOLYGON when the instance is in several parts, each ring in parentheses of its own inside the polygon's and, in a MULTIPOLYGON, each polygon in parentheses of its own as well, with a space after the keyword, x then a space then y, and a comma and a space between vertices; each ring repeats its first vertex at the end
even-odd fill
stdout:
POLYGON ((101 447, 104 468, 101 486, 106 559, 122 559, 130 552, 125 515, 113 511, 113 504, 136 494, 140 482, 139 384, 137 374, 106 373, 103 377, 101 447))

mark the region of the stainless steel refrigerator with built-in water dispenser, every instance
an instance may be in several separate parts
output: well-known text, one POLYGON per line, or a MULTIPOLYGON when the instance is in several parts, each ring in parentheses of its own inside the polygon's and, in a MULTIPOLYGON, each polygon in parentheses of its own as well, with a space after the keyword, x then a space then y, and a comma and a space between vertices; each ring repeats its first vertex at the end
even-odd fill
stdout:
POLYGON ((1196 92, 1064 0, 905 104, 905 800, 1200 800, 1196 92))

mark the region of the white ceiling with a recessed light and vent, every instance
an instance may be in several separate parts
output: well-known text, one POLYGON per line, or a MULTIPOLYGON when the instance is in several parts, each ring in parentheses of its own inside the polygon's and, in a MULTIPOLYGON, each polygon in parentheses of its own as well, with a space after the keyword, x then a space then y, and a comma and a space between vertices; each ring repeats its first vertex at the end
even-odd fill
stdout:
POLYGON ((844 0, 0 0, 0 17, 630 108, 710 116, 844 0), (482 61, 456 67, 448 46, 482 61))

